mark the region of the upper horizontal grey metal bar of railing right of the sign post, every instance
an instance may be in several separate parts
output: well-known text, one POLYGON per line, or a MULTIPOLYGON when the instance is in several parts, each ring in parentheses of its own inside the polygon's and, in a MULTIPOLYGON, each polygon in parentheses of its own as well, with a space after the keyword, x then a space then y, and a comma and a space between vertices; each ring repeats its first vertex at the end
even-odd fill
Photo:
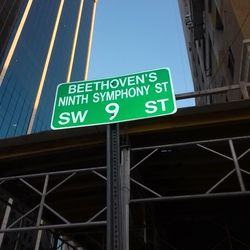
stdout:
POLYGON ((243 140, 243 139, 250 139, 250 135, 239 136, 239 137, 220 138, 220 139, 211 139, 211 140, 203 140, 203 141, 180 142, 180 143, 172 143, 172 144, 165 144, 165 145, 138 147, 138 148, 132 148, 131 150, 132 151, 141 151, 141 150, 149 150, 149 149, 156 149, 156 148, 170 148, 170 147, 188 146, 188 145, 194 145, 194 144, 200 144, 200 143, 223 142, 223 141, 229 141, 229 140, 243 140))

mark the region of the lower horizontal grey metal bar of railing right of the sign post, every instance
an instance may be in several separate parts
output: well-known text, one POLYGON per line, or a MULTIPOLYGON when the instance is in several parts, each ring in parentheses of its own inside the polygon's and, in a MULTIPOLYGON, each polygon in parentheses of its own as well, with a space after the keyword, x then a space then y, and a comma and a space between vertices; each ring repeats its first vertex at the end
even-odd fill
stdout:
POLYGON ((199 199, 215 199, 215 198, 229 198, 239 196, 250 196, 250 191, 245 192, 225 192, 216 194, 195 194, 195 195, 180 195, 180 196, 164 196, 157 198, 142 198, 130 200, 131 204, 147 203, 147 202, 167 202, 167 201, 184 201, 184 200, 199 200, 199 199))

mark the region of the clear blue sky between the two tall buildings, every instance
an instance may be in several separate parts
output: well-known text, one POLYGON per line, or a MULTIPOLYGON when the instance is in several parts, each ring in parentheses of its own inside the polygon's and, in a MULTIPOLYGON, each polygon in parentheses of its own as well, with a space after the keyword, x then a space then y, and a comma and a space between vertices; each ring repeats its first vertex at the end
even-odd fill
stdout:
POLYGON ((88 79, 162 67, 170 68, 175 93, 193 91, 178 1, 99 0, 88 79))

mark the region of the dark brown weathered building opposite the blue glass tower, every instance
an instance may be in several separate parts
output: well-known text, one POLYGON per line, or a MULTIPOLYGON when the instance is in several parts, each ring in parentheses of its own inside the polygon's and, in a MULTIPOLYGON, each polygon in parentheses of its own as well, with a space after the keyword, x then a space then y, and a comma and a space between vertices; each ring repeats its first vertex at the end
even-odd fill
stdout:
POLYGON ((198 98, 196 103, 248 98, 249 1, 179 0, 179 6, 195 91, 228 87, 226 93, 198 98))

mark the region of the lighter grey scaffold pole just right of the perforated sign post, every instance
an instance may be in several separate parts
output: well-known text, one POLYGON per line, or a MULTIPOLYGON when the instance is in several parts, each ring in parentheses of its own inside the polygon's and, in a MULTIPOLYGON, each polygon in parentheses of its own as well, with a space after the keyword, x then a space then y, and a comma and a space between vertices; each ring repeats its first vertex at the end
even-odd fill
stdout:
POLYGON ((130 149, 123 148, 121 156, 122 249, 129 250, 130 149))

